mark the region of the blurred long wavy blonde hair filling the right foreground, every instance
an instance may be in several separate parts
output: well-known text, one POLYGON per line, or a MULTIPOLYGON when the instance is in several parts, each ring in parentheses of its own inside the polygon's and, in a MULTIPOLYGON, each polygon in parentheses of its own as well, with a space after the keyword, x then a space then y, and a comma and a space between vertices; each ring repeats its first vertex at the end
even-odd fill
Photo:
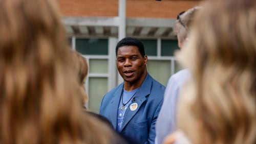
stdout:
POLYGON ((190 32, 179 128, 192 143, 256 143, 256 1, 206 1, 190 32))

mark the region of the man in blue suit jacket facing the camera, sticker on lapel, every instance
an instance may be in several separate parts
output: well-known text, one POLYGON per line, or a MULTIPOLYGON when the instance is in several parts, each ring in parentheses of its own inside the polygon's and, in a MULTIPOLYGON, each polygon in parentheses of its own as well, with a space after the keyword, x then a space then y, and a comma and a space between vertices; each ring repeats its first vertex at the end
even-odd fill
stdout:
POLYGON ((116 46, 116 56, 124 82, 104 95, 99 113, 121 134, 154 143, 165 87, 147 74, 147 56, 140 40, 123 38, 116 46))

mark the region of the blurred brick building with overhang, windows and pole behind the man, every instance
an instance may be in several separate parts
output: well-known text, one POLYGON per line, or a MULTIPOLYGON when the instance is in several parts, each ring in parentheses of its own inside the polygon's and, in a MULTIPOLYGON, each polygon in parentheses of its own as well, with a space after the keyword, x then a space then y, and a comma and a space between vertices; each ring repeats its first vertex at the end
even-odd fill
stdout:
POLYGON ((58 0, 69 44, 87 58, 89 75, 87 107, 98 112, 103 95, 122 82, 116 68, 115 46, 127 36, 144 43, 147 70, 166 86, 180 68, 173 32, 177 14, 201 1, 154 0, 58 0))

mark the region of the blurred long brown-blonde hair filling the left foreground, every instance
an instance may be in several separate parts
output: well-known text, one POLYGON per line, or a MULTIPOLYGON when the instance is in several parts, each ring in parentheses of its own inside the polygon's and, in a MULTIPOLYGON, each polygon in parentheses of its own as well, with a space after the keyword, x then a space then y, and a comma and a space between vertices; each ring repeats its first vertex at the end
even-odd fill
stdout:
POLYGON ((83 112, 52 0, 0 1, 0 143, 112 143, 83 112))

